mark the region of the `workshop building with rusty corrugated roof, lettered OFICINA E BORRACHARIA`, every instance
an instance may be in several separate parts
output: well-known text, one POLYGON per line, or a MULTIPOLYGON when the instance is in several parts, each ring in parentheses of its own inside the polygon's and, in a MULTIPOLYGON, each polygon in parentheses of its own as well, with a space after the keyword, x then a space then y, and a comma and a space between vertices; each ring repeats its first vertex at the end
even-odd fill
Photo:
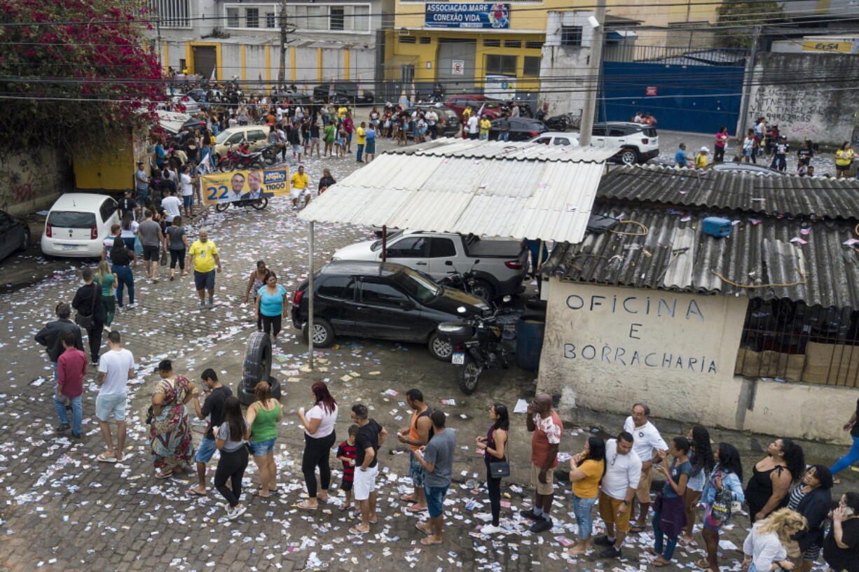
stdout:
POLYGON ((856 180, 619 167, 543 267, 539 390, 841 441, 859 387, 856 180), (715 219, 715 220, 713 220, 715 219), (712 227, 712 228, 711 228, 712 227))

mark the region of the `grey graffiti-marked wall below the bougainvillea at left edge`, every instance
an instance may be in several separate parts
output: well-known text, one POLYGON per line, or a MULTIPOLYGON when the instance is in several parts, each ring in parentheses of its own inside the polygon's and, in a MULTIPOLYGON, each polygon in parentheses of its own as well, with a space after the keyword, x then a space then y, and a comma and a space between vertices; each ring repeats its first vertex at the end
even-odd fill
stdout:
POLYGON ((46 209, 73 181, 70 161, 56 149, 0 153, 0 210, 23 215, 46 209))

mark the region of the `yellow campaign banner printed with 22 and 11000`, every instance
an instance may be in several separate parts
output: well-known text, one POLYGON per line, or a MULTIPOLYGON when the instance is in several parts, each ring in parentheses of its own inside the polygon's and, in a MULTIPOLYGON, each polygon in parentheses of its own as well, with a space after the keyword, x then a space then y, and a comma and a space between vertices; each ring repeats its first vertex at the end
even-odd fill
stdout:
POLYGON ((206 204, 289 197, 289 167, 211 173, 200 177, 206 204))

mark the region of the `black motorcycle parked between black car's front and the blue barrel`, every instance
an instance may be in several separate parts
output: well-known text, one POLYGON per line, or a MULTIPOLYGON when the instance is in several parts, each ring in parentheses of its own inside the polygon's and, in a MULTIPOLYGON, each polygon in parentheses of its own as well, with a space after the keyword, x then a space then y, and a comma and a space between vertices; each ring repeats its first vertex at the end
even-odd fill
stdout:
MULTIPOLYGON (((504 296, 509 301, 510 296, 504 296)), ((457 312, 465 313, 465 307, 457 312)), ((457 380, 460 389, 471 395, 478 386, 478 378, 484 369, 507 369, 507 349, 503 343, 503 327, 498 323, 497 310, 489 317, 442 322, 438 325, 439 338, 453 345, 451 362, 459 368, 457 380)))

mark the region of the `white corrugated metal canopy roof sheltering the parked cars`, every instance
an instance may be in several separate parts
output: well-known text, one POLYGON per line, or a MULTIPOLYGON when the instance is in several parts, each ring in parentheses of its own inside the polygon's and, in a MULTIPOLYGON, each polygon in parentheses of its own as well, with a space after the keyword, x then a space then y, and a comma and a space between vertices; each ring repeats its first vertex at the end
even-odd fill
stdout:
POLYGON ((606 149, 437 140, 381 155, 329 187, 299 217, 578 242, 612 155, 606 149))

